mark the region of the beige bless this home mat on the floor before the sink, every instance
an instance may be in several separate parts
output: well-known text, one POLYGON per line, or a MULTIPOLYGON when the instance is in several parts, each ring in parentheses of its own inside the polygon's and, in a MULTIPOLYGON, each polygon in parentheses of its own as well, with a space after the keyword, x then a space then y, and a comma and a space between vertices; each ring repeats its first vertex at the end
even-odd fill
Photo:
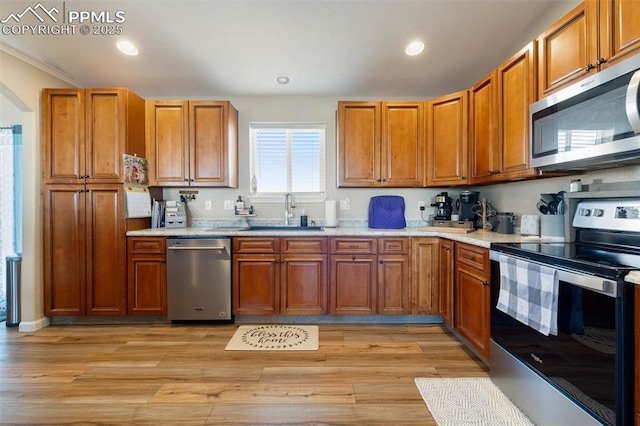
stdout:
POLYGON ((317 351, 317 325, 242 325, 227 351, 317 351))

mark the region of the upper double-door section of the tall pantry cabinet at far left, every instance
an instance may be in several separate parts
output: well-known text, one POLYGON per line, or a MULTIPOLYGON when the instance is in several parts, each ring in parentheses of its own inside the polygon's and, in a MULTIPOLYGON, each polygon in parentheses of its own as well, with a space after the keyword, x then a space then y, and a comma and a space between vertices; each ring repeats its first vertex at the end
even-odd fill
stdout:
POLYGON ((122 154, 144 155, 144 100, 124 88, 44 89, 45 184, 123 183, 122 154))

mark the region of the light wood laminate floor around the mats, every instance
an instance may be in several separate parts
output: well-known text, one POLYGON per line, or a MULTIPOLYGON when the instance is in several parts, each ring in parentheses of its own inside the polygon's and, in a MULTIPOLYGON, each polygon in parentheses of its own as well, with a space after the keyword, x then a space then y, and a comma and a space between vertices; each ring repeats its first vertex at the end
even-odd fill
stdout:
POLYGON ((416 377, 486 377, 439 325, 320 325, 318 351, 225 351, 237 325, 0 328, 1 424, 435 425, 416 377))

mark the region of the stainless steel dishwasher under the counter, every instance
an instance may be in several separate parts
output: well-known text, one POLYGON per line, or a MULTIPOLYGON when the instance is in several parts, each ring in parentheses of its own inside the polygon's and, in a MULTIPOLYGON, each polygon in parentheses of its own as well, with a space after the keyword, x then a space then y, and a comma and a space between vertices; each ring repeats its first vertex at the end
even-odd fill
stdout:
POLYGON ((231 320, 231 238, 167 239, 169 320, 231 320))

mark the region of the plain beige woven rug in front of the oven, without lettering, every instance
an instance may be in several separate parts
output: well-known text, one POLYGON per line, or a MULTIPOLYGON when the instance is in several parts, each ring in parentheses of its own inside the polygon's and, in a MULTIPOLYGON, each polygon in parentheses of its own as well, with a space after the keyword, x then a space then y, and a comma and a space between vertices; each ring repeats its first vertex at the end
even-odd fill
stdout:
POLYGON ((489 378, 417 378, 415 382, 439 426, 533 426, 489 378))

